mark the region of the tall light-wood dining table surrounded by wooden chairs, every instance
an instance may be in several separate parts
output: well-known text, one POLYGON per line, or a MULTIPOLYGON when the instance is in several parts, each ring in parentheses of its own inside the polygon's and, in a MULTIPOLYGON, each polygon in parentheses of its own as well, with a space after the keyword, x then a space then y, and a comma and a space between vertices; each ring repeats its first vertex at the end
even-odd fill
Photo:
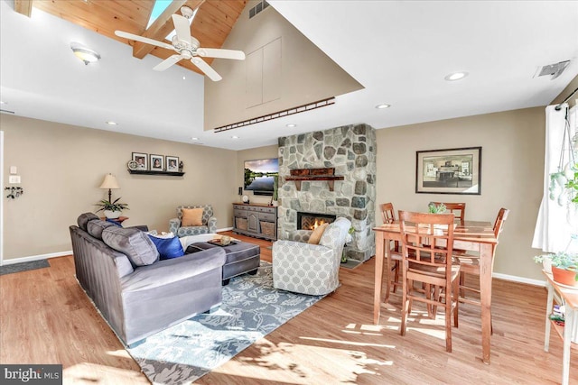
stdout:
MULTIPOLYGON (((387 266, 387 285, 390 285, 392 241, 402 242, 399 221, 374 227, 376 234, 375 292, 373 322, 379 324, 382 303, 384 261, 387 266)), ((453 249, 479 252, 482 361, 489 364, 491 337, 491 280, 492 259, 498 239, 493 224, 484 221, 457 221, 453 230, 453 249)), ((389 288, 389 286, 387 286, 389 288)))

